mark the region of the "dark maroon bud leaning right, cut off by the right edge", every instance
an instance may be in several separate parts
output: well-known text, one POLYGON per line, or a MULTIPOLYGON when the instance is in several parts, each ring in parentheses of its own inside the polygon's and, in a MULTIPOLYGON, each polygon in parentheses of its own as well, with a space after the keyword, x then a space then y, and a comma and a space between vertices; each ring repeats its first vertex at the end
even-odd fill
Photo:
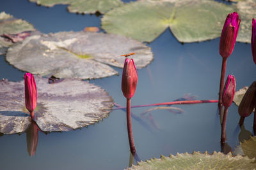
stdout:
POLYGON ((238 113, 241 117, 248 117, 251 115, 254 107, 255 107, 255 96, 256 95, 256 81, 250 85, 244 97, 239 104, 238 113))

